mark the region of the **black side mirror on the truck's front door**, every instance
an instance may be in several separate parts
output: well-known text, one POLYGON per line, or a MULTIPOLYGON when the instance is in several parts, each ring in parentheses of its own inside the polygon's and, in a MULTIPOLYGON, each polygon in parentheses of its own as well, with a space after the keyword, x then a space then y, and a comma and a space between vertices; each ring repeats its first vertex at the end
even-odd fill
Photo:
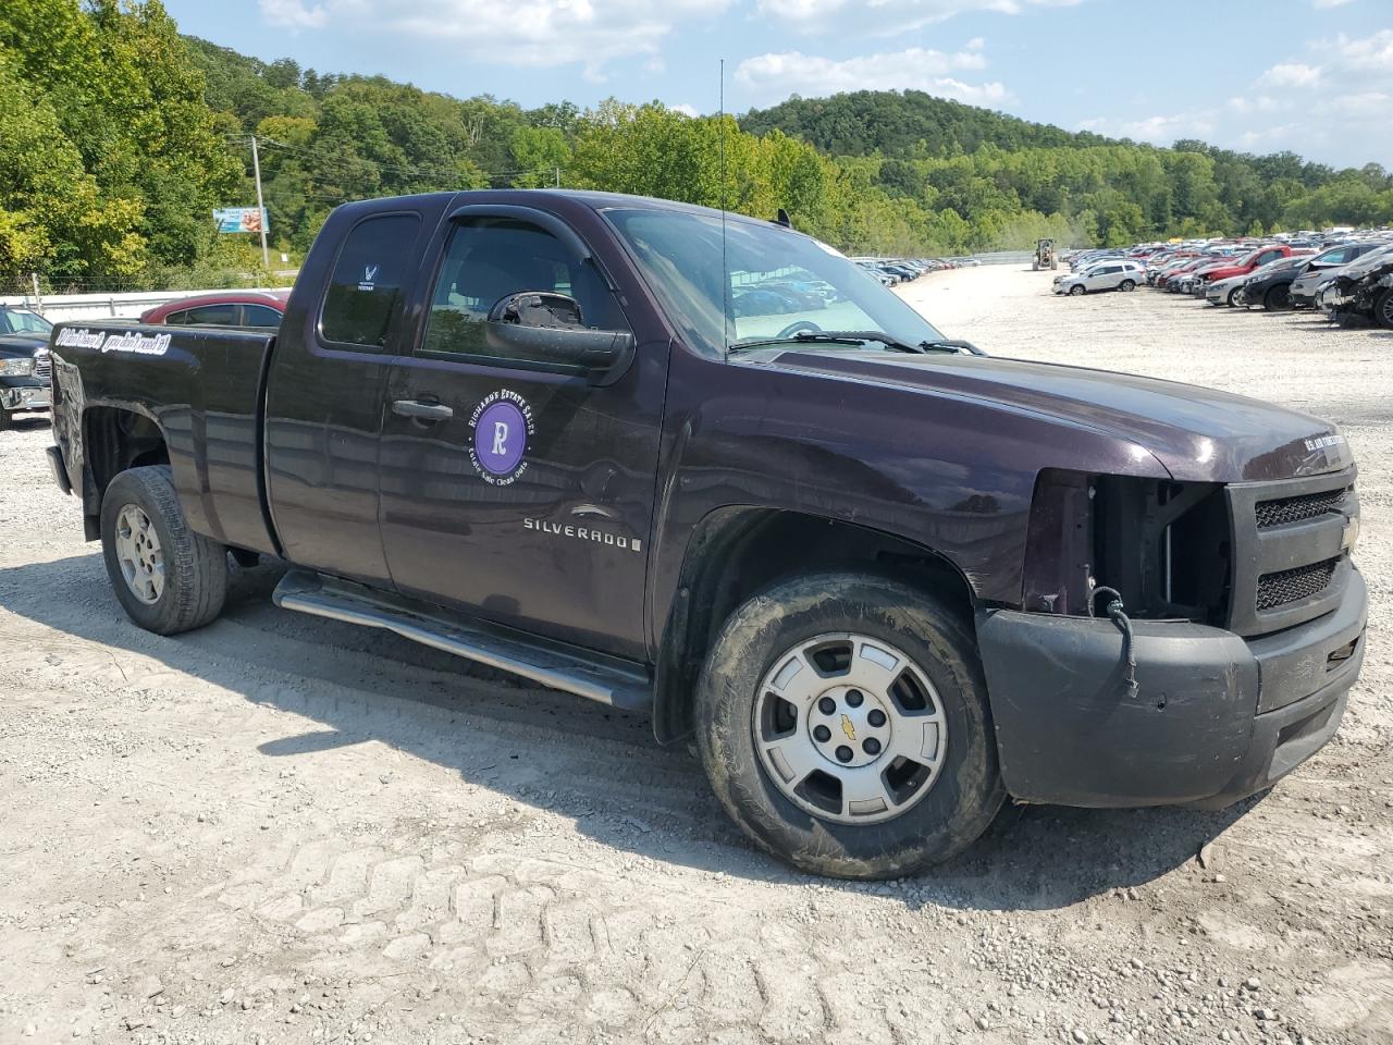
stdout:
POLYGON ((592 385, 609 385, 634 357, 634 334, 584 326, 575 298, 550 291, 508 294, 495 304, 485 344, 488 355, 575 373, 592 385))

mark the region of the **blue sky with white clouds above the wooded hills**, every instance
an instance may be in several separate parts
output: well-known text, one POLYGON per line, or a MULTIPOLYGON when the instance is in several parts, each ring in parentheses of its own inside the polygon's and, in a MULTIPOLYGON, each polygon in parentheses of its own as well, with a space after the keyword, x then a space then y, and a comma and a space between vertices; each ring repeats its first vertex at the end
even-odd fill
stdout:
POLYGON ((164 0, 319 72, 532 107, 907 89, 1156 145, 1393 169, 1393 0, 164 0))

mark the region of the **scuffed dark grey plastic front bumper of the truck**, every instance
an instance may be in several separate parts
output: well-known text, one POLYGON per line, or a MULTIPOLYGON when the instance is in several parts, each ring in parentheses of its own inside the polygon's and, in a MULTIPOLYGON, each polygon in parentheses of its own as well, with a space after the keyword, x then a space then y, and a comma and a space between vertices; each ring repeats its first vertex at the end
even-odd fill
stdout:
POLYGON ((1109 620, 983 610, 976 633, 1006 789, 1056 805, 1223 808, 1334 736, 1364 662, 1368 592, 1261 638, 1134 620, 1135 698, 1109 620))

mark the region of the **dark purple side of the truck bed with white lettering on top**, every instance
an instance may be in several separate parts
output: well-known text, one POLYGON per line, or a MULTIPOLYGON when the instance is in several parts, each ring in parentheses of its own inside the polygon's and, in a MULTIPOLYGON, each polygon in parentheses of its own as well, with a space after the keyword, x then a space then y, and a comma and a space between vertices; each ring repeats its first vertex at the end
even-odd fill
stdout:
POLYGON ((86 535, 121 470, 170 465, 189 527, 276 553, 260 431, 273 333, 63 323, 53 332, 53 429, 86 535))

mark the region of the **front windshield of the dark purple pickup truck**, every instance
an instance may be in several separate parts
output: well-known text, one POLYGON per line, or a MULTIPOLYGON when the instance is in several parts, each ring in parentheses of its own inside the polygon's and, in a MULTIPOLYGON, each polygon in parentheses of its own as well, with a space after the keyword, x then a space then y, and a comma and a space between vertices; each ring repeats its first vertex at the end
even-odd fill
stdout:
POLYGON ((605 216, 671 318, 708 354, 798 330, 879 330, 908 346, 943 340, 875 276, 801 233, 731 217, 723 251, 717 216, 623 209, 605 216))

